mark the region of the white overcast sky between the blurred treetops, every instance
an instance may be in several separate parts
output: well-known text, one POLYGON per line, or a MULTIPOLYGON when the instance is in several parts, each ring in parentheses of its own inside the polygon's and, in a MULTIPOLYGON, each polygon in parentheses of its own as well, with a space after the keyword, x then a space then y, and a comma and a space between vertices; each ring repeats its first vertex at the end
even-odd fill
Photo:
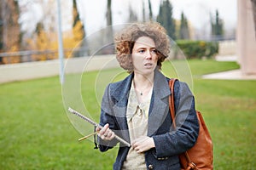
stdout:
MULTIPOLYGON (((113 25, 126 23, 128 19, 129 3, 134 11, 142 18, 143 0, 112 0, 113 25)), ((146 13, 148 0, 144 0, 146 13)), ((160 0, 151 0, 154 17, 158 14, 160 0)), ((181 12, 197 29, 208 26, 210 13, 215 16, 215 11, 224 20, 225 29, 236 27, 236 0, 171 0, 173 17, 179 19, 181 12)), ((107 0, 79 0, 79 8, 84 17, 87 35, 106 26, 107 0)))

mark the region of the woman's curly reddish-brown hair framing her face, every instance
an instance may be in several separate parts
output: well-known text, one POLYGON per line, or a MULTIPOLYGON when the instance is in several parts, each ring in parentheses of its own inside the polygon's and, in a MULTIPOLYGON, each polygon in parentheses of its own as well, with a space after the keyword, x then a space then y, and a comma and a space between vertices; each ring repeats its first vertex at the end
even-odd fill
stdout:
POLYGON ((170 53, 171 44, 166 29, 157 22, 131 24, 114 37, 119 65, 129 73, 133 71, 131 51, 139 37, 150 37, 154 40, 158 54, 157 65, 160 68, 170 53))

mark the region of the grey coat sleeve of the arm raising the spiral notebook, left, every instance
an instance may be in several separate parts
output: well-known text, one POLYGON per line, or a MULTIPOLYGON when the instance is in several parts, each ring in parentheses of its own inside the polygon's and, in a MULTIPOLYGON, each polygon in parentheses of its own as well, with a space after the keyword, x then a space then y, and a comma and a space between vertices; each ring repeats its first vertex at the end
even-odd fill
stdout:
MULTIPOLYGON (((113 99, 110 95, 110 84, 105 89, 105 93, 102 97, 102 106, 101 106, 101 117, 100 117, 100 125, 104 126, 105 124, 109 124, 109 128, 115 131, 117 129, 117 124, 115 123, 113 113, 113 99)), ((99 149, 101 151, 107 151, 108 149, 113 148, 117 144, 117 140, 113 139, 111 141, 104 141, 101 138, 97 138, 99 143, 99 149)))

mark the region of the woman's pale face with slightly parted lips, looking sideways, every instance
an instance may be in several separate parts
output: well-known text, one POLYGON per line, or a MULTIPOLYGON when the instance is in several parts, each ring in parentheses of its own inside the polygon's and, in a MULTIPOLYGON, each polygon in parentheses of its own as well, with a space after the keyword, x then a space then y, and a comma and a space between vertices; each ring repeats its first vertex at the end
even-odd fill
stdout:
POLYGON ((134 72, 143 75, 153 73, 157 59, 154 40, 150 37, 139 37, 134 43, 131 54, 134 72))

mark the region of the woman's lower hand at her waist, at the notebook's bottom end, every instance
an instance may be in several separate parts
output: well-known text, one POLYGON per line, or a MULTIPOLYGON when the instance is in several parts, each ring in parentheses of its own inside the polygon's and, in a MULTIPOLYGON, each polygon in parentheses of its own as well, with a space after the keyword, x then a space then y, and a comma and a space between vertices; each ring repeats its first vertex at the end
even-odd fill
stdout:
POLYGON ((131 147, 137 151, 137 153, 142 153, 144 151, 150 150, 151 148, 154 148, 154 139, 150 138, 148 136, 142 136, 138 139, 135 139, 131 143, 131 147))

